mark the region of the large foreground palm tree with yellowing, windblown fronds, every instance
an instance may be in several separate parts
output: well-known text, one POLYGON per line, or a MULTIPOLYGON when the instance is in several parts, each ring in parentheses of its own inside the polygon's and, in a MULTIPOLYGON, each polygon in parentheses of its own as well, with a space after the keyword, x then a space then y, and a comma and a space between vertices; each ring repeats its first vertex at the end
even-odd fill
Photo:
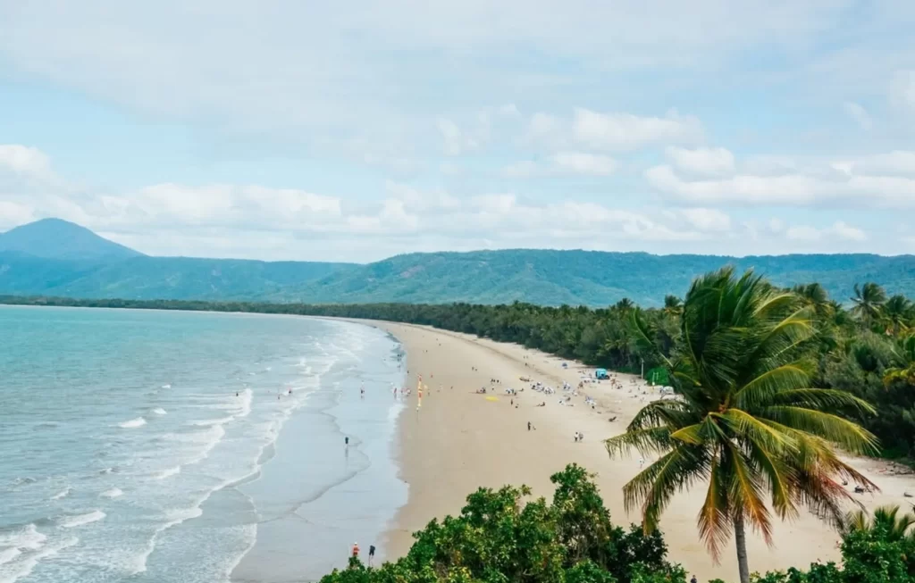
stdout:
MULTIPOLYGON (((840 503, 852 496, 837 480, 875 487, 832 447, 876 452, 877 438, 838 413, 874 409, 845 391, 810 388, 801 351, 815 330, 800 303, 750 271, 736 278, 726 268, 695 280, 676 355, 659 355, 678 398, 650 403, 606 441, 611 457, 632 449, 659 456, 623 488, 628 508, 640 504, 647 531, 674 493, 708 482, 699 534, 717 561, 734 532, 741 583, 749 581, 746 525, 771 542, 765 497, 781 519, 807 506, 839 525, 840 503)), ((651 345, 638 310, 631 327, 651 345)))

